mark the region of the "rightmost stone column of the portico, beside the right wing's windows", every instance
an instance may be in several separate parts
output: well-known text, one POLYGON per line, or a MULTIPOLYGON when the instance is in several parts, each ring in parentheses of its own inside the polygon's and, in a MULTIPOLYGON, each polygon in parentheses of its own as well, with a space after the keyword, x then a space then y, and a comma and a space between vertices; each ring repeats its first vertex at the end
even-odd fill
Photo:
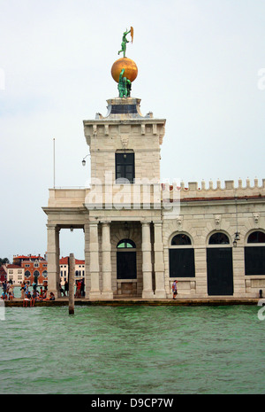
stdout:
POLYGON ((166 299, 164 284, 162 222, 154 222, 155 231, 155 299, 166 299))

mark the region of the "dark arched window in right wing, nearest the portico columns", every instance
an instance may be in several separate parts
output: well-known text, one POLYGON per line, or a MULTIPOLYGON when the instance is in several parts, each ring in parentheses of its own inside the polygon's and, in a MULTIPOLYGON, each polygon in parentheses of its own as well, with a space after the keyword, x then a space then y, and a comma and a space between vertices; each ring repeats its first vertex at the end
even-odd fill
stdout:
POLYGON ((194 277, 194 249, 185 233, 178 233, 170 242, 170 277, 194 277))

